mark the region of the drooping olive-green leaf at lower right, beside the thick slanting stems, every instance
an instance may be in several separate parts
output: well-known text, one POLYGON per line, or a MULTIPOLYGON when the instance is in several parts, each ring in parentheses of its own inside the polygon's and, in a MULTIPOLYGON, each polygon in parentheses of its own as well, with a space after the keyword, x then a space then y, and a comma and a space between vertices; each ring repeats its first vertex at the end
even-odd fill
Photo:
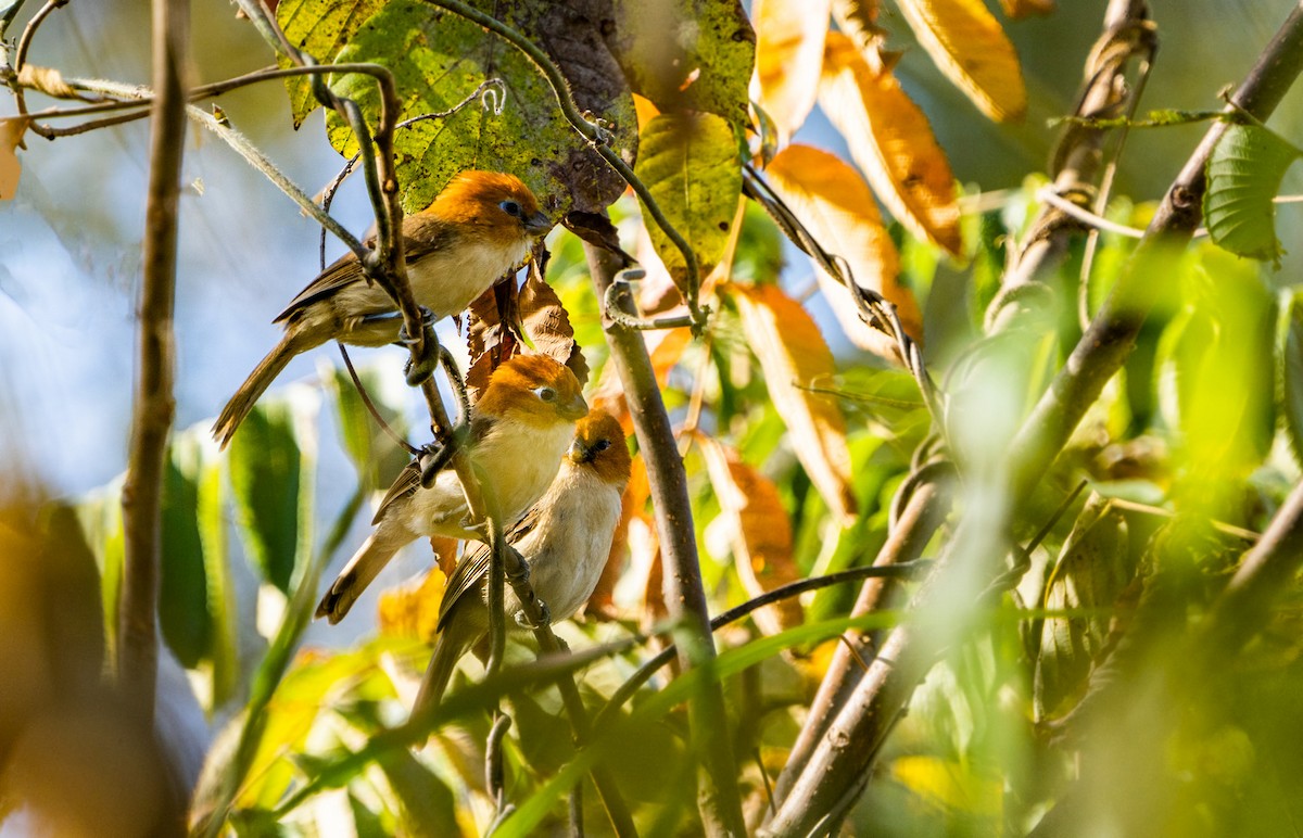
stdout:
POLYGON ((1110 510, 1108 499, 1092 495, 1045 588, 1046 610, 1084 613, 1048 616, 1041 624, 1033 684, 1037 718, 1054 718, 1080 697, 1109 631, 1109 609, 1135 575, 1127 556, 1126 519, 1110 510))

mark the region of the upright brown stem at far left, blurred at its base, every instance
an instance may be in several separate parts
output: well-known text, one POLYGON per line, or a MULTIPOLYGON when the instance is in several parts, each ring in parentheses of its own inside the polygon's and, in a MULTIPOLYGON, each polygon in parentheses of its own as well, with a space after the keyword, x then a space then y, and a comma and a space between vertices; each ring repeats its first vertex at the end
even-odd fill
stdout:
POLYGON ((154 718, 158 678, 158 592, 162 490, 172 395, 177 199, 185 151, 188 0, 154 0, 154 130, 141 285, 139 379, 122 486, 124 566, 119 605, 119 678, 141 718, 154 718))

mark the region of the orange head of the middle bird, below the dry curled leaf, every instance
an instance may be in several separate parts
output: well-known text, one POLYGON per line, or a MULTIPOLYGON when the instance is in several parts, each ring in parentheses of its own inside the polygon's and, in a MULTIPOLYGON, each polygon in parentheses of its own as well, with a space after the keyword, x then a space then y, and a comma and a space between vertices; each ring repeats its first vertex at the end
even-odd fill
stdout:
POLYGON ((542 427, 582 418, 588 403, 568 366, 546 354, 517 354, 493 371, 476 412, 542 427))

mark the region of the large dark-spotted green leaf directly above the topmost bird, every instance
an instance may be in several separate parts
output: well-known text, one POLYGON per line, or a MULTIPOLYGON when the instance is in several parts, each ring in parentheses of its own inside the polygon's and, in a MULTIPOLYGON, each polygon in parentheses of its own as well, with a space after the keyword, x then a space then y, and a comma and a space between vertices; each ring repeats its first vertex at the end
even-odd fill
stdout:
MULTIPOLYGON (((521 0, 506 10, 489 0, 472 3, 539 43, 569 82, 580 109, 606 120, 611 147, 632 160, 633 99, 606 50, 598 22, 568 4, 521 0)), ((373 61, 390 68, 401 96, 400 119, 451 109, 481 82, 502 79, 500 112, 472 102, 456 113, 414 124, 395 136, 403 207, 427 207, 457 172, 468 168, 519 175, 558 214, 598 212, 624 192, 624 181, 562 115, 551 85, 515 46, 477 23, 418 0, 396 0, 367 20, 337 61, 373 61)), ((354 99, 377 124, 379 93, 369 76, 332 77, 331 89, 354 99)), ((331 145, 357 151, 352 130, 331 112, 331 145)))

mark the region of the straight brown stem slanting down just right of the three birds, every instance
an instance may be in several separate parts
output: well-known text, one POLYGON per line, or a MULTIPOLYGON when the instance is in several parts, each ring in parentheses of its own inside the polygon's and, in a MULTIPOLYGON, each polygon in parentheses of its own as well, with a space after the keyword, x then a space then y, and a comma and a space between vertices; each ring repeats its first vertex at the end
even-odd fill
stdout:
MULTIPOLYGON (((619 270, 619 259, 586 241, 584 253, 597 287, 597 298, 605 300, 619 270)), ((619 325, 606 311, 602 326, 611 348, 611 361, 624 386, 633 431, 648 469, 661 556, 666 568, 666 606, 670 616, 683 628, 681 640, 687 641, 678 644, 679 663, 683 669, 710 666, 715 658, 715 646, 701 584, 688 480, 683 457, 675 446, 674 427, 661 399, 661 388, 657 387, 642 336, 619 325)), ((737 766, 728 736, 723 693, 717 682, 706 682, 689 700, 688 722, 698 759, 697 808, 702 825, 710 835, 743 835, 745 824, 737 792, 737 766)))

